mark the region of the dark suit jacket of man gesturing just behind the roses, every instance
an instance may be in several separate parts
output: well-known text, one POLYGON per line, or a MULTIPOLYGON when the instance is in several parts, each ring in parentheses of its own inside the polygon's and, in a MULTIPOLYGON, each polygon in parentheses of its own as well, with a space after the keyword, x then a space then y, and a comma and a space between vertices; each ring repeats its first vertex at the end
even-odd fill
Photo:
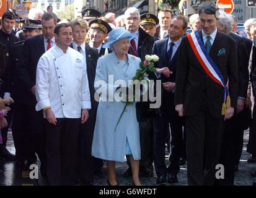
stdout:
MULTIPOLYGON (((159 61, 156 62, 156 68, 169 67, 169 70, 172 71, 172 75, 167 78, 165 75, 161 74, 161 82, 175 82, 176 80, 176 70, 177 70, 177 60, 179 54, 179 48, 175 52, 172 61, 169 64, 168 54, 167 54, 167 45, 169 38, 164 38, 163 40, 158 40, 154 43, 152 54, 156 54, 159 57, 159 61)), ((167 92, 162 87, 162 104, 161 108, 167 110, 174 110, 174 92, 167 92)), ((173 111, 170 111, 173 112, 173 111)))

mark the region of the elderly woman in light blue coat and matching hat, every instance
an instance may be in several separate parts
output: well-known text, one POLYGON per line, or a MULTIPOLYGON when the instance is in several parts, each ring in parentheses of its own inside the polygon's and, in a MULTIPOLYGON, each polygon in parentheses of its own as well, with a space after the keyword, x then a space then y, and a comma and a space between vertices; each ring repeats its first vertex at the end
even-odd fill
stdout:
POLYGON ((133 79, 141 61, 128 54, 131 39, 136 33, 125 28, 112 30, 108 34, 108 42, 104 48, 112 49, 112 53, 99 58, 95 75, 95 97, 99 95, 99 107, 92 142, 92 156, 104 159, 108 169, 108 184, 117 185, 115 161, 124 161, 129 155, 133 172, 133 184, 139 182, 139 124, 136 119, 135 103, 126 106, 120 101, 120 95, 129 87, 128 80, 133 79), (119 98, 119 99, 118 99, 119 98), (118 120, 120 119, 119 123, 118 120), (117 124, 118 123, 118 124, 117 124))

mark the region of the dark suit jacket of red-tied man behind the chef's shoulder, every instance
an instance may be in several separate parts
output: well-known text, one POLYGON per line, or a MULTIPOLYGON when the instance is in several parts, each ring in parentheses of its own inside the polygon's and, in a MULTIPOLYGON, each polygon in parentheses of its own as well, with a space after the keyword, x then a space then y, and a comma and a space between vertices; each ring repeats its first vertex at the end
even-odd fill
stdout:
POLYGON ((23 45, 20 65, 17 67, 20 83, 22 83, 22 87, 24 87, 24 95, 27 98, 26 105, 32 106, 33 108, 37 100, 35 95, 30 92, 30 88, 35 85, 37 63, 43 53, 45 53, 43 35, 27 38, 23 45))

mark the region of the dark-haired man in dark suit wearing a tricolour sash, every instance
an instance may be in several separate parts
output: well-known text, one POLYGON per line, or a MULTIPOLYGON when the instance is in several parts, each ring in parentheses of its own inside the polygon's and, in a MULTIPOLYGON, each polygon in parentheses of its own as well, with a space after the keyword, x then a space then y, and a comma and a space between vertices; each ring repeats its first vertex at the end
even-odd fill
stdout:
POLYGON ((237 46, 218 32, 215 4, 198 7, 202 30, 184 37, 177 65, 175 110, 185 116, 189 185, 213 185, 224 120, 237 106, 237 46))

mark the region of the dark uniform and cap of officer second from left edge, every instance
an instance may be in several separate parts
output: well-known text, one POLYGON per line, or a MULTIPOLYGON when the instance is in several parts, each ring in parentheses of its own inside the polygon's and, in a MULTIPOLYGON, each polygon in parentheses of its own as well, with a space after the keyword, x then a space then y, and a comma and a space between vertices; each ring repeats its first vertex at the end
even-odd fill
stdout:
MULTIPOLYGON (((40 25, 40 22, 32 19, 22 20, 22 23, 23 30, 37 30, 38 25, 40 25)), ((24 41, 25 40, 16 42, 12 46, 12 51, 15 53, 12 53, 13 56, 11 57, 11 67, 9 67, 9 73, 11 73, 12 76, 12 97, 15 101, 13 107, 14 116, 12 121, 12 135, 14 137, 17 161, 20 164, 30 164, 37 160, 35 155, 35 152, 37 152, 37 141, 34 139, 32 134, 29 133, 30 116, 26 107, 27 97, 24 94, 26 90, 20 82, 19 73, 17 71, 17 67, 19 67, 20 61, 22 59, 24 41)))

